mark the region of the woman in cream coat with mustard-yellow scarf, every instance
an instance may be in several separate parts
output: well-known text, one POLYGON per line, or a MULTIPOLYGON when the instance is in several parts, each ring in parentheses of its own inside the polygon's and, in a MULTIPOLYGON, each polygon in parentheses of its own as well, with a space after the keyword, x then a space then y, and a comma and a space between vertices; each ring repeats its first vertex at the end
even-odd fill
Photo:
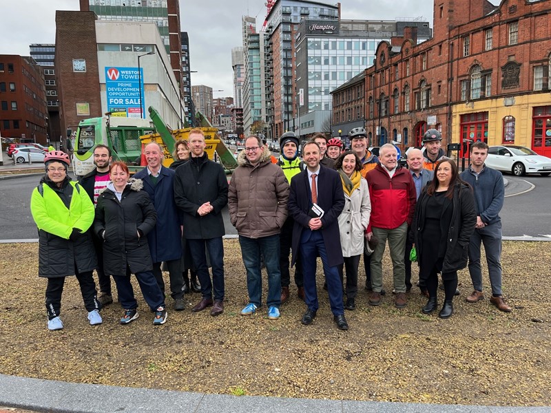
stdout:
POLYGON ((340 244, 344 264, 339 267, 341 282, 343 266, 346 268, 346 305, 347 310, 354 310, 357 294, 357 267, 364 253, 364 233, 369 224, 371 201, 367 181, 362 178, 362 162, 353 151, 342 153, 335 169, 340 173, 345 204, 339 215, 340 244))

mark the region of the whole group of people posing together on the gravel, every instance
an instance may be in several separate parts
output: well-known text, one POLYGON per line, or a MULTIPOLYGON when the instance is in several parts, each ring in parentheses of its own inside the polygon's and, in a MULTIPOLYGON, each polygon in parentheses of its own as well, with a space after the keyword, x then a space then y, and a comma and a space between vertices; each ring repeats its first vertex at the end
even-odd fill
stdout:
POLYGON ((249 302, 242 315, 253 315, 262 307, 265 266, 267 317, 278 319, 280 306, 290 297, 294 266, 298 297, 306 304, 301 322, 311 324, 319 308, 320 257, 333 320, 337 328, 347 330, 344 310, 355 309, 362 257, 365 287, 371 292, 368 304, 382 302, 387 242, 397 308, 407 306, 406 293, 412 288, 412 248, 419 264, 418 285, 428 297, 423 313, 438 306, 440 274, 444 306, 439 317, 453 314, 457 271, 467 264, 474 290, 466 299, 484 299, 484 242, 490 301, 510 311, 501 292, 503 179, 484 165, 488 145, 472 144, 472 164, 460 174, 455 162, 444 156, 441 134, 435 129, 424 135, 423 150, 408 151, 408 169, 399 165, 393 145, 380 147, 379 156, 370 153, 364 128, 352 129, 349 138, 351 150, 344 151, 340 139, 317 134, 302 146, 301 159, 298 137, 286 132, 280 138, 281 155, 274 159, 266 142, 249 136, 229 184, 222 166, 207 157, 201 129, 192 129, 189 140, 176 142, 170 168, 163 166, 162 147, 155 142, 145 145, 147 167, 133 178, 124 162, 112 162, 109 147, 98 145, 94 170, 79 183, 72 182, 67 177, 68 156, 50 151, 45 156, 46 174, 31 200, 39 228, 39 276, 48 278, 48 328, 63 328, 61 293, 69 275, 79 280, 92 325, 102 323, 101 307, 113 301, 111 277, 124 310, 121 324, 138 317, 132 274, 154 312, 154 324, 164 324, 163 270, 169 273, 174 310, 184 310, 184 294, 195 290, 201 299, 193 312, 211 308, 211 315, 222 314, 221 212, 226 205, 247 273, 249 302))

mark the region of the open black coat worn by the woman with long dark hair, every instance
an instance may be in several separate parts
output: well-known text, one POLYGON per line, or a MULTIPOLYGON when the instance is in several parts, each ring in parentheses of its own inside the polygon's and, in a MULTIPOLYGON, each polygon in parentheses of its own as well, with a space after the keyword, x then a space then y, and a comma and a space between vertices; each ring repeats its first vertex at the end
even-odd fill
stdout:
MULTIPOLYGON (((422 232, 424 229, 428 187, 424 187, 419 200, 415 204, 415 216, 412 223, 413 242, 417 255, 421 257, 424 253, 422 243, 422 232)), ((447 199, 446 199, 447 200, 447 199)), ((451 273, 467 266, 469 241, 472 233, 475 232, 477 223, 477 213, 475 212, 475 198, 472 195, 472 188, 465 183, 455 184, 453 191, 453 200, 451 204, 452 219, 448 229, 442 229, 447 232, 446 254, 442 264, 442 273, 451 273)), ((446 203, 444 204, 446 208, 446 203)), ((439 242, 439 240, 434 240, 439 242)), ((419 262, 421 260, 419 259, 419 262)))

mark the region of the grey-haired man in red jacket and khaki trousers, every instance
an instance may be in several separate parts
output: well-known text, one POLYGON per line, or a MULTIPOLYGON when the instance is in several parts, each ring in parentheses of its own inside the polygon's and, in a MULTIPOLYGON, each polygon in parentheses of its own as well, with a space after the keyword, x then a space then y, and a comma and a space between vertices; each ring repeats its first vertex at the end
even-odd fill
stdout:
POLYGON ((379 151, 380 165, 366 174, 371 198, 371 218, 367 236, 371 239, 371 236, 375 235, 379 240, 371 255, 373 293, 369 297, 369 304, 378 306, 381 303, 382 257, 388 240, 396 293, 394 304, 397 308, 404 308, 407 304, 404 250, 417 195, 411 174, 398 165, 397 158, 398 153, 393 145, 383 145, 379 151))

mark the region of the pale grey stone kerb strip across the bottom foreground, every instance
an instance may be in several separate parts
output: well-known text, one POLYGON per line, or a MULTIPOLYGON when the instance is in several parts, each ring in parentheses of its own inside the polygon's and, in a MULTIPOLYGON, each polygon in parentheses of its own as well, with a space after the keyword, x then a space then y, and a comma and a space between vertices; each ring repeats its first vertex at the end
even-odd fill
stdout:
MULTIPOLYGON (((362 412, 362 413, 549 413, 549 407, 431 405, 373 401, 228 396, 143 388, 65 383, 0 374, 0 405, 32 412, 362 412)), ((0 407, 1 409, 1 407, 0 407)), ((1 411, 1 410, 0 410, 1 411)))

